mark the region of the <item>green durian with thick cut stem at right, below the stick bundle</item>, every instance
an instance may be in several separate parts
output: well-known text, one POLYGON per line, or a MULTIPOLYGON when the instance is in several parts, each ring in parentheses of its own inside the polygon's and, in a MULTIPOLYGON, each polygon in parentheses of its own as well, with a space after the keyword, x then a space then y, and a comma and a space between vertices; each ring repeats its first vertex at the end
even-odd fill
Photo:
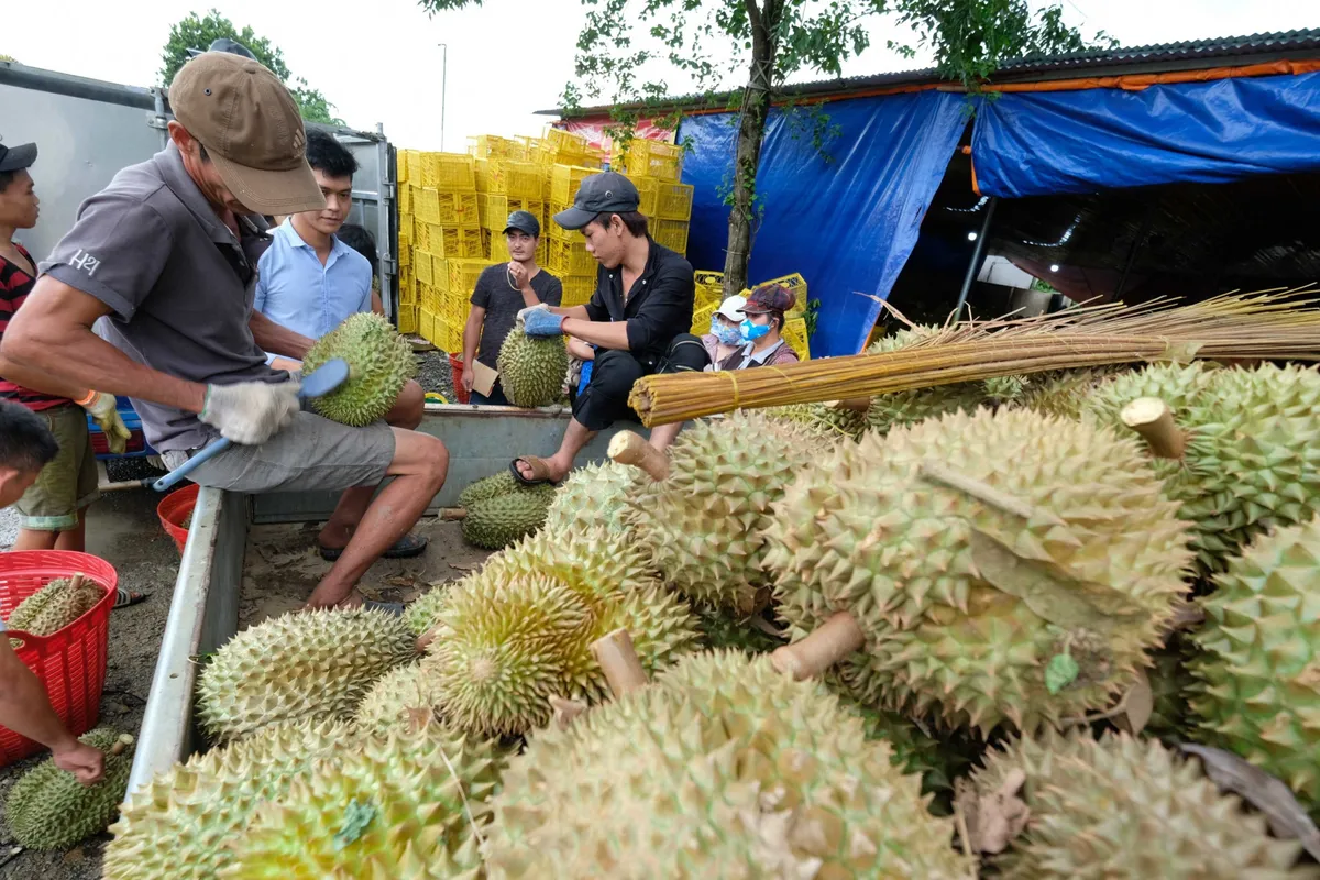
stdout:
POLYGON ((1320 372, 1155 364, 1101 385, 1085 414, 1119 425, 1122 408, 1160 397, 1188 435, 1181 459, 1152 459, 1166 493, 1196 524, 1203 574, 1275 525, 1320 512, 1320 372))

